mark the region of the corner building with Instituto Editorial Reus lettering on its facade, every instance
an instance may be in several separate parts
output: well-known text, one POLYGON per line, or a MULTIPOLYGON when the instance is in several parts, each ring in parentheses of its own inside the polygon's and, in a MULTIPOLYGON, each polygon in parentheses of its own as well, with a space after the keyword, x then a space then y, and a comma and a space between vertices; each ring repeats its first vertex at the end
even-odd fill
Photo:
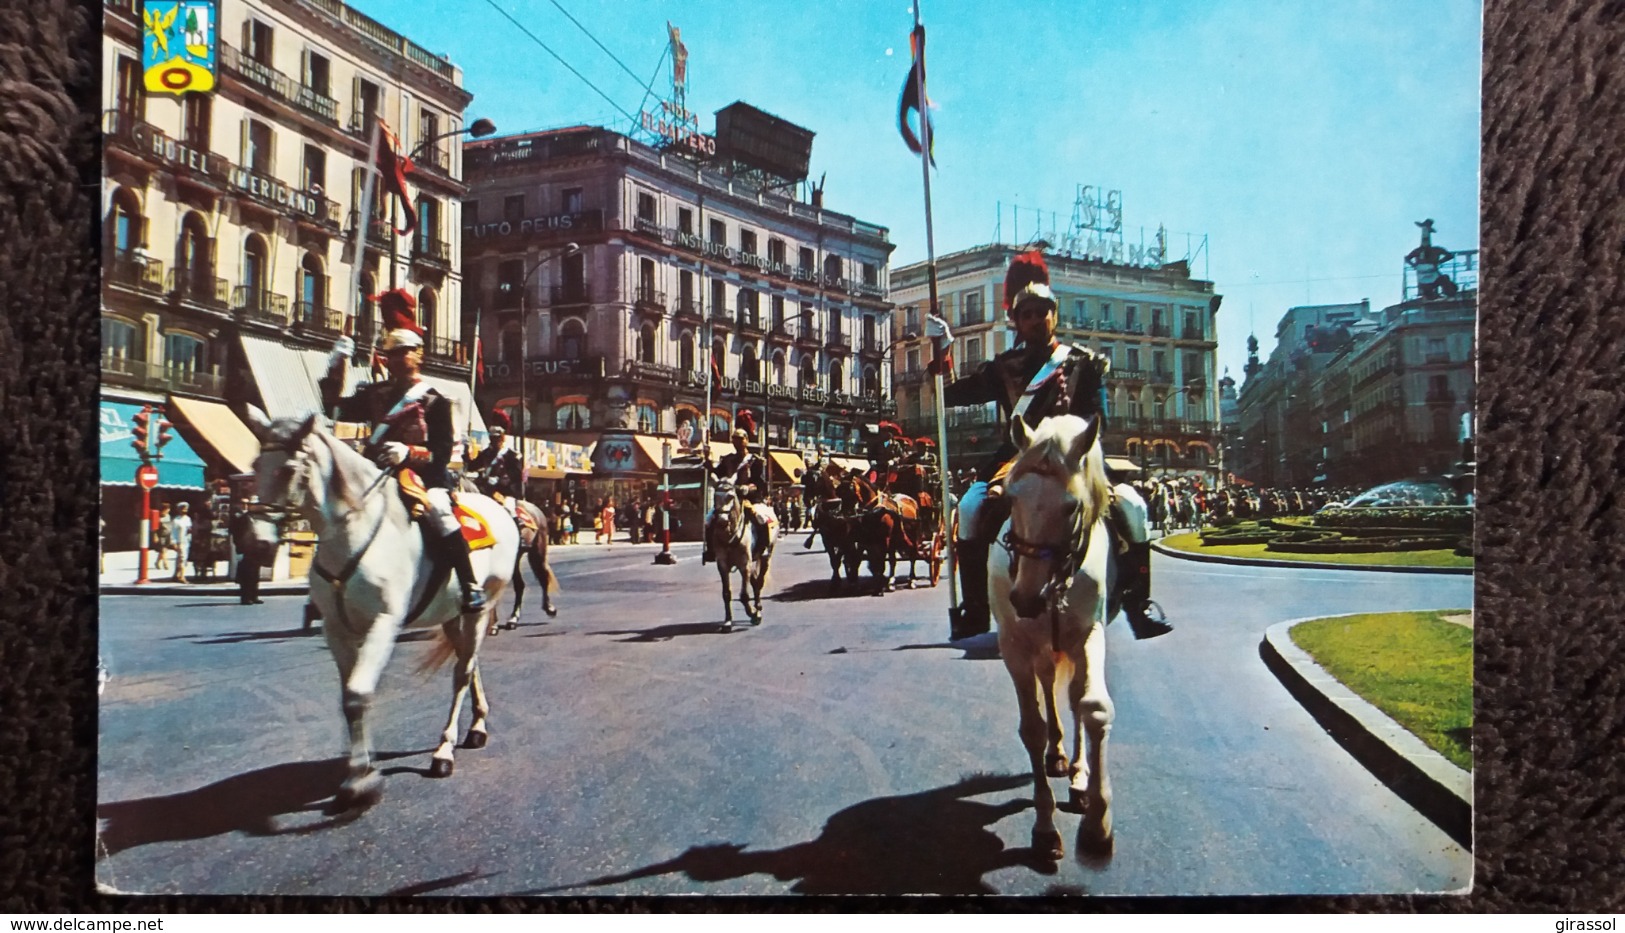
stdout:
MULTIPOLYGON (((783 124, 733 104, 708 146, 728 148, 728 117, 783 124)), ((811 146, 783 127, 775 138, 811 146)), ((821 449, 858 453, 861 426, 895 411, 894 245, 822 192, 795 197, 795 167, 764 179, 603 127, 470 141, 465 159, 479 401, 530 437, 593 444, 595 499, 647 491, 668 449, 696 452, 707 427, 720 455, 743 410, 765 431, 775 483, 821 449)))

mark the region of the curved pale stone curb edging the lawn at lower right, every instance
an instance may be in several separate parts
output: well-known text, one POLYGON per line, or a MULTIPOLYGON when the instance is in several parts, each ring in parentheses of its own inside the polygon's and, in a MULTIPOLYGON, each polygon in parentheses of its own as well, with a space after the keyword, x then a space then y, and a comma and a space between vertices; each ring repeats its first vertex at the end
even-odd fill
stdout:
MULTIPOLYGON (((1347 613, 1363 614, 1363 613, 1347 613)), ((1316 616, 1339 618, 1339 616, 1316 616)), ((1355 696, 1292 644, 1292 626, 1264 631, 1258 653, 1303 709, 1389 790, 1433 821, 1451 839, 1472 848, 1472 774, 1422 743, 1380 709, 1355 696)))

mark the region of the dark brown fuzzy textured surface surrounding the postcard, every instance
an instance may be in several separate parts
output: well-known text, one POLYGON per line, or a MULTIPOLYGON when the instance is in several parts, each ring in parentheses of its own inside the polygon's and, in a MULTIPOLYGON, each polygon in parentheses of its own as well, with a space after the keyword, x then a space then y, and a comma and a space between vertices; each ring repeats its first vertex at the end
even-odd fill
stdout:
MULTIPOLYGON (((93 889, 99 28, 93 0, 0 5, 0 912, 325 907, 93 889)), ((1625 910, 1625 506, 1615 497, 1625 3, 1552 0, 1537 11, 1492 0, 1484 34, 1476 891, 1164 910, 1625 910)))

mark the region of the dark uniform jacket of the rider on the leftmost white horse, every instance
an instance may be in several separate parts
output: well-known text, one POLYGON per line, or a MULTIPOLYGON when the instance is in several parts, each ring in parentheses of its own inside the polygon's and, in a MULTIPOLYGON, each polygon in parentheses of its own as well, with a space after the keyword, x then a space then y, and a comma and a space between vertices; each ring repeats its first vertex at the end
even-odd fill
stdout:
POLYGON ((341 367, 335 367, 318 384, 322 406, 338 410, 338 421, 359 421, 372 427, 361 453, 372 460, 384 444, 405 444, 410 449, 405 466, 411 466, 429 489, 452 489, 452 449, 457 431, 452 426, 452 400, 434 388, 421 390, 416 400, 398 405, 410 385, 369 382, 354 393, 340 398, 344 387, 341 367), (377 426, 384 424, 384 431, 377 426))

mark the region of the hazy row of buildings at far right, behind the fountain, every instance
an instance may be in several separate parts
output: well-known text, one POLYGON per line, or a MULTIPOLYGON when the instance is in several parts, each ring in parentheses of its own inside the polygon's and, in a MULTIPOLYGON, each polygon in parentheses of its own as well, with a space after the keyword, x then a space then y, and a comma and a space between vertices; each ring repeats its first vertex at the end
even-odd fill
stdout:
POLYGON ((1375 314, 1368 301, 1290 309, 1264 364, 1254 341, 1230 471, 1336 488, 1459 471, 1472 458, 1477 250, 1448 255, 1375 314), (1440 275, 1448 288, 1428 288, 1440 275))

